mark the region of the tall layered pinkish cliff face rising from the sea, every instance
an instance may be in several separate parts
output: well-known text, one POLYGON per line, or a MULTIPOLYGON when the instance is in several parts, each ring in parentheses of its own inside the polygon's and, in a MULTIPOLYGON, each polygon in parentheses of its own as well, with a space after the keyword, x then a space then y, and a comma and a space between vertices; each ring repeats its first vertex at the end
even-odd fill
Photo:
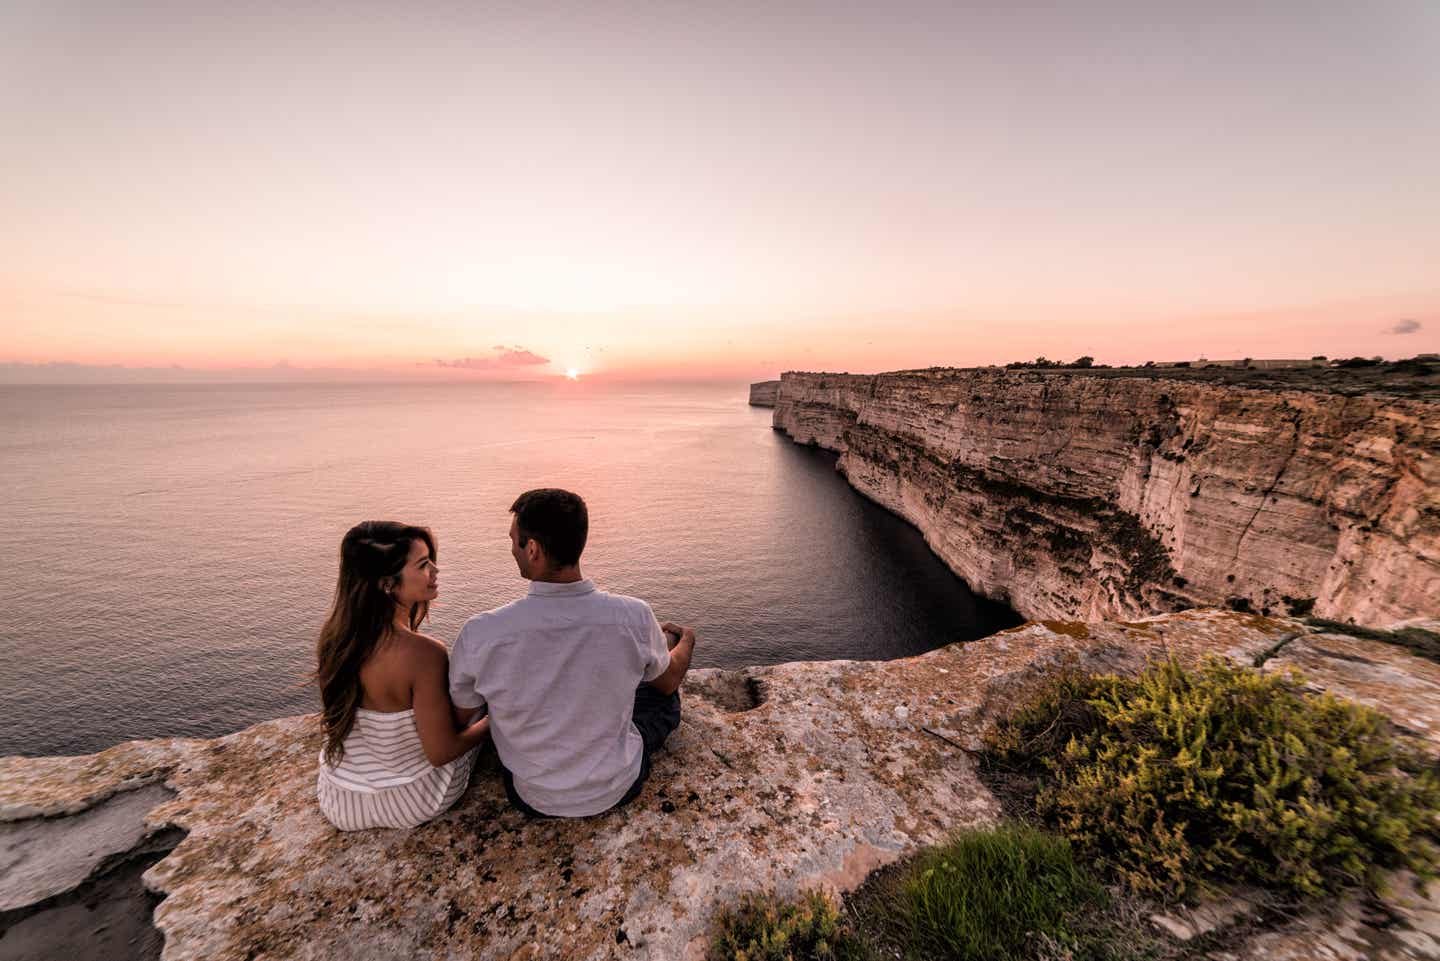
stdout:
POLYGON ((838 451, 973 589, 1030 618, 1197 605, 1384 624, 1440 598, 1440 403, 1032 370, 786 373, 775 426, 838 451))

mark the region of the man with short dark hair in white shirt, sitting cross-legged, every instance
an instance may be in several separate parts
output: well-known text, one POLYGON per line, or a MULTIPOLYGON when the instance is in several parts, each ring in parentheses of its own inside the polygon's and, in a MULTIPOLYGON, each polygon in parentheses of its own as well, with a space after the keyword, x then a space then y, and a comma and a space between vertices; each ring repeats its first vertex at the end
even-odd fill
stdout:
POLYGON ((579 496, 531 490, 510 513, 510 552, 530 594, 467 621, 451 653, 451 700, 490 707, 514 807, 599 814, 639 794, 651 755, 680 726, 696 633, 580 575, 589 513, 579 496), (678 640, 667 645, 667 634, 678 640))

